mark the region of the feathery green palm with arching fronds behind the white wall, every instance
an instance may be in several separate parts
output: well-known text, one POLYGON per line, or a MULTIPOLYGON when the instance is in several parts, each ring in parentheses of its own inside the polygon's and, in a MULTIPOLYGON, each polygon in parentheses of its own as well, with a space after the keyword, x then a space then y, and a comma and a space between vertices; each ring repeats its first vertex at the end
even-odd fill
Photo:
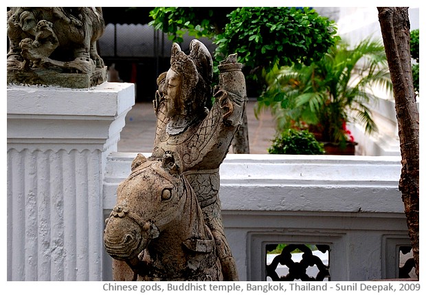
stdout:
POLYGON ((361 124, 368 134, 377 131, 368 105, 377 98, 372 89, 392 89, 383 45, 371 39, 353 49, 337 43, 320 61, 277 68, 267 82, 256 111, 271 109, 278 130, 309 129, 324 145, 340 149, 355 144, 348 122, 361 124))

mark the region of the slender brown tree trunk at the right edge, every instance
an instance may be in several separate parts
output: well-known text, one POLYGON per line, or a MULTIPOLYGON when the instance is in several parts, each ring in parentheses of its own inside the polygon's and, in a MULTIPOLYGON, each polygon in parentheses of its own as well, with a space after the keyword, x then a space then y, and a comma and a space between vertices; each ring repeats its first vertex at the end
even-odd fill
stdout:
POLYGON ((379 10, 383 44, 394 88, 396 118, 401 148, 399 190, 405 206, 408 234, 412 243, 418 276, 418 109, 412 80, 410 21, 408 8, 385 7, 379 10))

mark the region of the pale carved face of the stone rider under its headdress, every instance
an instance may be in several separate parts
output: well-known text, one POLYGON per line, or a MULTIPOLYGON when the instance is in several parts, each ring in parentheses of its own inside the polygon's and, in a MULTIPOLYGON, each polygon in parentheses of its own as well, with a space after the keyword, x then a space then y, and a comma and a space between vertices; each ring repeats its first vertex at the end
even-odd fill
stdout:
POLYGON ((183 110, 183 101, 181 97, 181 76, 169 69, 166 75, 166 99, 168 116, 181 114, 183 110))

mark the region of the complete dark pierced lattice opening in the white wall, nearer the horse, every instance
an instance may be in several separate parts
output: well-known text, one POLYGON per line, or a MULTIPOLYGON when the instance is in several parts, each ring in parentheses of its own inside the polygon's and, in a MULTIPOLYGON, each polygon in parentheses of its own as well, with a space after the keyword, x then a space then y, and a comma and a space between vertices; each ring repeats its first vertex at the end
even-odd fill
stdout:
MULTIPOLYGON (((276 246, 276 244, 267 245, 267 250, 273 250, 276 248, 276 246)), ((330 250, 330 246, 328 245, 316 245, 316 247, 322 253, 330 250)), ((324 281, 324 278, 330 278, 328 267, 328 265, 324 265, 324 263, 322 263, 322 260, 318 256, 313 255, 312 250, 309 249, 308 246, 303 244, 291 244, 287 245, 282 250, 281 254, 276 256, 271 264, 267 265, 266 273, 267 276, 272 279, 272 281, 324 281), (303 252, 302 260, 300 262, 293 261, 291 256, 291 252, 296 249, 303 252), (286 276, 279 276, 276 272, 278 263, 289 267, 289 274, 286 276), (316 265, 319 270, 315 278, 306 274, 308 267, 312 267, 313 265, 316 265)))

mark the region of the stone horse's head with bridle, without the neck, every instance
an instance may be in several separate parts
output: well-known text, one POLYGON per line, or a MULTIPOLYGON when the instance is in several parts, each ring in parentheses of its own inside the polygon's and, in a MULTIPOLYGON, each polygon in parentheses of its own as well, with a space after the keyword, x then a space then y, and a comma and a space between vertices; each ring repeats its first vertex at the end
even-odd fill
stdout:
POLYGON ((166 153, 162 161, 138 154, 131 175, 117 188, 117 202, 106 219, 106 251, 118 260, 135 258, 159 232, 180 219, 186 190, 179 163, 166 153))

